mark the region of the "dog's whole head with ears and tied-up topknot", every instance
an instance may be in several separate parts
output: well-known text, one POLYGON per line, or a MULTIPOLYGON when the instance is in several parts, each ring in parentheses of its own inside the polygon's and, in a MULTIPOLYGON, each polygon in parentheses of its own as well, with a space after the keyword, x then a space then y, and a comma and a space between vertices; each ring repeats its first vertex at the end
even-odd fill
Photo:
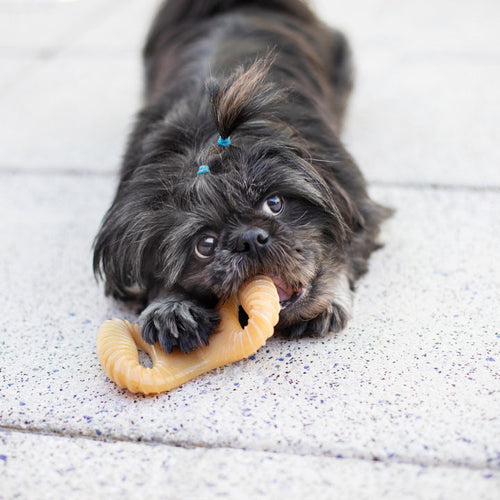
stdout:
POLYGON ((144 141, 142 165, 122 180, 95 243, 109 291, 178 288, 215 304, 263 273, 277 286, 281 324, 308 316, 303 297, 323 266, 340 264, 361 216, 280 115, 268 68, 210 83, 216 130, 190 135, 180 122, 192 110, 181 108, 144 141), (217 145, 218 134, 231 145, 217 145), (197 175, 199 165, 210 172, 197 175))

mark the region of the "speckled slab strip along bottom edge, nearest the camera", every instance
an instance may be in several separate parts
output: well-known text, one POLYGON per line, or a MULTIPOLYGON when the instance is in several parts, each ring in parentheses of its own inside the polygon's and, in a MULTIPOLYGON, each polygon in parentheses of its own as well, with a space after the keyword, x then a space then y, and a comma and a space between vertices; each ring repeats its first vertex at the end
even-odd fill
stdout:
POLYGON ((497 499, 500 471, 0 431, 2 498, 497 499))

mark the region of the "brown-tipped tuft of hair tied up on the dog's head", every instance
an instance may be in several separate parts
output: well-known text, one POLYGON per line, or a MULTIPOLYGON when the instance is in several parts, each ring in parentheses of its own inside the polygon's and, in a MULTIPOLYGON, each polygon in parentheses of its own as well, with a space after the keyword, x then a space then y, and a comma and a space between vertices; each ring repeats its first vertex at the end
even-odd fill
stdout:
POLYGON ((283 100, 266 76, 276 56, 271 52, 246 69, 242 66, 225 80, 209 79, 207 89, 217 131, 226 139, 241 124, 255 117, 272 117, 283 100))

